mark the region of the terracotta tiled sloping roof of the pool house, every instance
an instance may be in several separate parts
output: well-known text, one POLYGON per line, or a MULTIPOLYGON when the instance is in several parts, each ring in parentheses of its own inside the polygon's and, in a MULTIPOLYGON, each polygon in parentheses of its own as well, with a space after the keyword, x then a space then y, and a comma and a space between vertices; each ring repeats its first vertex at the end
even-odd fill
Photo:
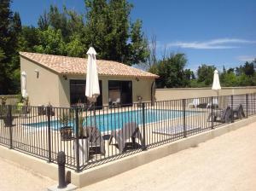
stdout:
MULTIPOLYGON (((60 74, 86 73, 87 59, 85 58, 62 55, 44 55, 29 52, 20 52, 20 55, 60 74)), ((143 70, 129 67, 116 61, 96 60, 96 64, 99 75, 158 78, 158 76, 153 73, 144 72, 143 70)))

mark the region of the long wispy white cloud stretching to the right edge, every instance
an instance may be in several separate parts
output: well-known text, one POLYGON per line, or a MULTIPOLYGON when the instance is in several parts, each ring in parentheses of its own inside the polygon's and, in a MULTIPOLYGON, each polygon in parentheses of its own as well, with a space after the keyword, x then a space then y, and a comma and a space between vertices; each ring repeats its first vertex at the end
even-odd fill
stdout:
POLYGON ((256 41, 249 41, 240 38, 218 38, 209 41, 195 41, 195 42, 174 42, 167 43, 168 48, 180 47, 185 49, 235 49, 239 48, 241 44, 256 43, 256 41))

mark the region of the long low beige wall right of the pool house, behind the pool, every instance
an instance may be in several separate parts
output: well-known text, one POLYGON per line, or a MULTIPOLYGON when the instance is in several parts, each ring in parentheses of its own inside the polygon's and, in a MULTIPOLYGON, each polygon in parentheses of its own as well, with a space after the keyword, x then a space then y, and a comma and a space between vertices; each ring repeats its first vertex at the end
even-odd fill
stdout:
MULTIPOLYGON (((219 90, 219 96, 256 93, 256 87, 229 87, 219 90)), ((156 89, 156 101, 177 100, 195 97, 217 96, 217 92, 211 88, 173 88, 156 89)))

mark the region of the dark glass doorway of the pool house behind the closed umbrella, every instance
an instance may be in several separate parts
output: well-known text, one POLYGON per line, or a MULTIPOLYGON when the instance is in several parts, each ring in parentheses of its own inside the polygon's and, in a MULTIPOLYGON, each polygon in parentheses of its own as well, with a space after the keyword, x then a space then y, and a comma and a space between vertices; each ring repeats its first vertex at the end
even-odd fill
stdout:
MULTIPOLYGON (((70 79, 70 105, 76 106, 79 103, 88 103, 85 96, 85 80, 81 79, 70 79)), ((102 108, 102 80, 99 80, 100 84, 100 96, 97 97, 96 107, 102 108)))

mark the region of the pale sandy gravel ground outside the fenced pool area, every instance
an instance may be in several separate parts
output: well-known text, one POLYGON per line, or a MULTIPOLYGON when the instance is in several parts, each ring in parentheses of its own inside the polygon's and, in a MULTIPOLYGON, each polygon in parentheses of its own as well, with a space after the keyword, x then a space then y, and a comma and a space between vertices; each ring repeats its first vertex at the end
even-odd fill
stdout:
MULTIPOLYGON (((0 190, 45 190, 56 182, 0 159, 0 190)), ((79 191, 256 190, 256 123, 79 191)))

